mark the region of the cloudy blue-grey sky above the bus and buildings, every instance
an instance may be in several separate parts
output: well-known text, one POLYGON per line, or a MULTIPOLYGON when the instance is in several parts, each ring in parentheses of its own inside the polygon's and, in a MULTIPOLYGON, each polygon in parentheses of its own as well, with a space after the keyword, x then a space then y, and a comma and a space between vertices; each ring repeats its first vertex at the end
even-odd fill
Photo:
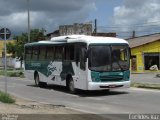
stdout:
MULTIPOLYGON (((0 0, 0 28, 12 34, 27 32, 27 0, 0 0)), ((160 32, 160 0, 30 0, 31 28, 46 34, 59 25, 92 23, 98 32, 116 32, 118 37, 160 32)))

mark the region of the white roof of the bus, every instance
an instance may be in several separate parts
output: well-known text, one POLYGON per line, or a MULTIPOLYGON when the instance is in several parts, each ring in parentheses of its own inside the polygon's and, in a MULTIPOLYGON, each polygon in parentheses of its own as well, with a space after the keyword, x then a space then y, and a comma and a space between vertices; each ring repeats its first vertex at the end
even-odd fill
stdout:
POLYGON ((128 42, 124 39, 114 38, 114 37, 99 37, 99 36, 87 36, 87 35, 67 35, 67 36, 59 36, 53 37, 50 40, 27 43, 25 46, 34 46, 34 45, 43 45, 43 44, 63 44, 63 43, 76 43, 83 42, 87 44, 92 43, 125 43, 128 42))

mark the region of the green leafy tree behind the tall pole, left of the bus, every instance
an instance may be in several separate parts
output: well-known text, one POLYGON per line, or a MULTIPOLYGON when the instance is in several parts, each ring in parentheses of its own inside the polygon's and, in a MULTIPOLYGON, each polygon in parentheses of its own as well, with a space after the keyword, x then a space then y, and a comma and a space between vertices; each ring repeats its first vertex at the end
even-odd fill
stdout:
MULTIPOLYGON (((30 42, 37 42, 40 40, 45 40, 44 35, 45 30, 42 29, 32 29, 30 32, 30 42)), ((7 53, 12 54, 12 57, 18 57, 21 62, 24 56, 24 44, 28 43, 28 34, 22 33, 19 36, 14 36, 16 41, 14 43, 7 43, 7 53)))

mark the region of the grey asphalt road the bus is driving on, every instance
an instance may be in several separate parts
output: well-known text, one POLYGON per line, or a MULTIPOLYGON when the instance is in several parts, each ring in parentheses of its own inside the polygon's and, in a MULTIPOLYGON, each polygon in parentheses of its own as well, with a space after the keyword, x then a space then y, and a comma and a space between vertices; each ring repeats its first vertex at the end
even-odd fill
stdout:
MULTIPOLYGON (((48 86, 38 88, 34 81, 7 78, 7 91, 21 98, 47 104, 64 105, 94 114, 160 113, 160 91, 123 89, 106 91, 79 91, 72 95, 65 88, 48 86)), ((0 77, 0 90, 4 90, 4 77, 0 77)))

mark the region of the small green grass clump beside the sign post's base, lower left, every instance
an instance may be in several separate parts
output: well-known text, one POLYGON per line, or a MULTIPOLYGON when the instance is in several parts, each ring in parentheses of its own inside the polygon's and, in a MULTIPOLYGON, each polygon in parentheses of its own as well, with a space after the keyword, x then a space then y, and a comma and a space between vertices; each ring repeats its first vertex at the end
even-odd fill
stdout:
POLYGON ((0 101, 3 103, 15 103, 15 99, 13 99, 9 94, 0 91, 0 101))

